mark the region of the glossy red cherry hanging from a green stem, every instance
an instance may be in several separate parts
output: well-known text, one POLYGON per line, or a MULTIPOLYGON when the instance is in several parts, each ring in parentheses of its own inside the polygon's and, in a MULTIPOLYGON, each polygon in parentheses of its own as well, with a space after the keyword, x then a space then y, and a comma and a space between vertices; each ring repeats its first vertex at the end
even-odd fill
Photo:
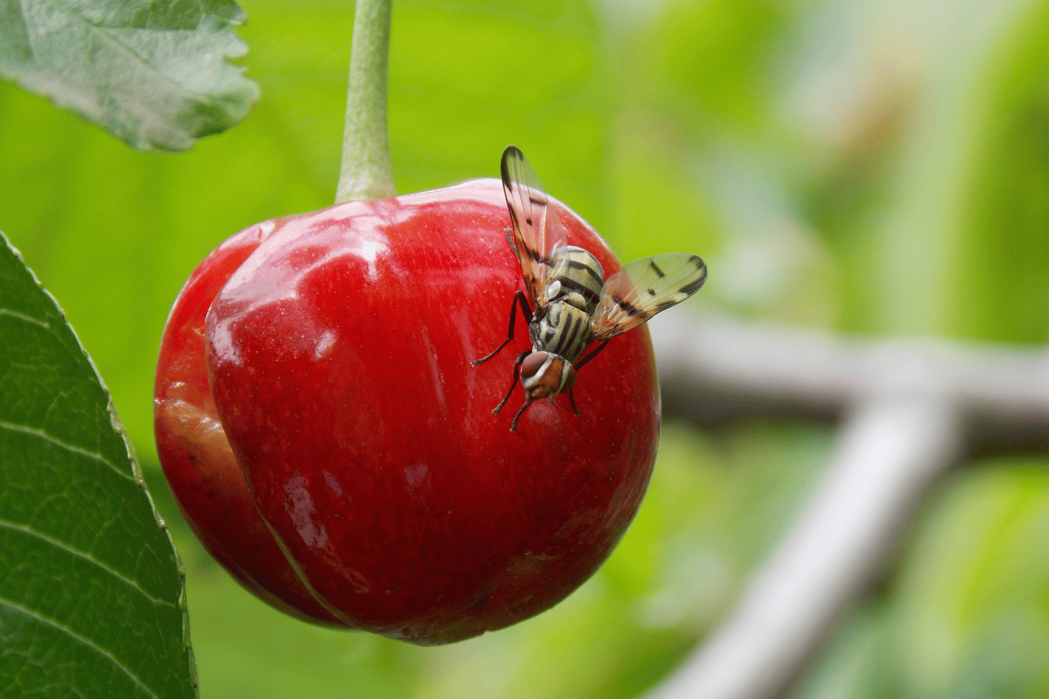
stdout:
MULTIPOLYGON (((618 270, 557 209, 569 244, 618 270)), ((165 331, 158 447, 187 518, 249 589, 314 620, 451 642, 549 609, 623 536, 659 432, 647 330, 579 372, 578 417, 557 395, 510 432, 520 386, 492 409, 530 348, 520 319, 470 364, 506 337, 523 288, 508 225, 501 183, 475 180, 263 223, 194 272, 165 331), (247 483, 177 399, 217 411, 247 483)))

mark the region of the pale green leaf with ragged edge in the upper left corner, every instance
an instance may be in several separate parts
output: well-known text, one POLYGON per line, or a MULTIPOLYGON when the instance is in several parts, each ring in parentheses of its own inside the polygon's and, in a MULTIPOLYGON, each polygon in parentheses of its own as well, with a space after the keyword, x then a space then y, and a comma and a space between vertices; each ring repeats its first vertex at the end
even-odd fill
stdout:
POLYGON ((0 75, 133 148, 186 150, 258 99, 227 61, 244 20, 233 0, 0 0, 0 75))

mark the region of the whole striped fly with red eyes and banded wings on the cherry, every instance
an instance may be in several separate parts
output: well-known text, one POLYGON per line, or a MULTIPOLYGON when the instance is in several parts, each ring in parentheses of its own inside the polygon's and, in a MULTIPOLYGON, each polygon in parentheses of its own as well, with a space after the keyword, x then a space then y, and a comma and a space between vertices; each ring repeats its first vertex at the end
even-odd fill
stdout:
POLYGON ((522 291, 514 294, 507 338, 472 364, 491 359, 513 340, 519 307, 529 324, 532 349, 517 355, 510 390, 492 411, 502 410, 520 380, 524 403, 510 423, 510 431, 516 432, 517 420, 537 398, 553 401, 558 393, 568 392, 578 415, 572 392, 576 372, 612 337, 695 293, 706 281, 707 266, 697 255, 669 253, 635 260, 606 281, 597 258, 568 244, 550 197, 520 149, 507 147, 500 171, 513 224, 506 228, 507 241, 520 263, 528 297, 522 291), (594 343, 600 345, 583 356, 594 343))

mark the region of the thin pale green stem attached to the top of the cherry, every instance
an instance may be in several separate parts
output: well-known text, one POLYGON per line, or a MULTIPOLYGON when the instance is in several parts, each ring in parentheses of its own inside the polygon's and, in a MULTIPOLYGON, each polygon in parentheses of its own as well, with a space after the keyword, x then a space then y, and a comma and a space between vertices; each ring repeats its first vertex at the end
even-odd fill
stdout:
POLYGON ((357 0, 336 203, 385 199, 397 193, 386 133, 391 1, 357 0))

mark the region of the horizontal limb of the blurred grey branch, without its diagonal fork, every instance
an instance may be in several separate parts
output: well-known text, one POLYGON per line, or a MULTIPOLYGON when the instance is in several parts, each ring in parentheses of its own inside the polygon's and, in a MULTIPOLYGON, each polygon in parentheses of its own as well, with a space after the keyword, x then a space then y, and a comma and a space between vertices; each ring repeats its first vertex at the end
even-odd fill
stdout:
POLYGON ((863 341, 673 311, 648 325, 666 409, 705 427, 753 415, 840 419, 879 396, 936 396, 959 410, 967 450, 1049 446, 1041 347, 863 341))

